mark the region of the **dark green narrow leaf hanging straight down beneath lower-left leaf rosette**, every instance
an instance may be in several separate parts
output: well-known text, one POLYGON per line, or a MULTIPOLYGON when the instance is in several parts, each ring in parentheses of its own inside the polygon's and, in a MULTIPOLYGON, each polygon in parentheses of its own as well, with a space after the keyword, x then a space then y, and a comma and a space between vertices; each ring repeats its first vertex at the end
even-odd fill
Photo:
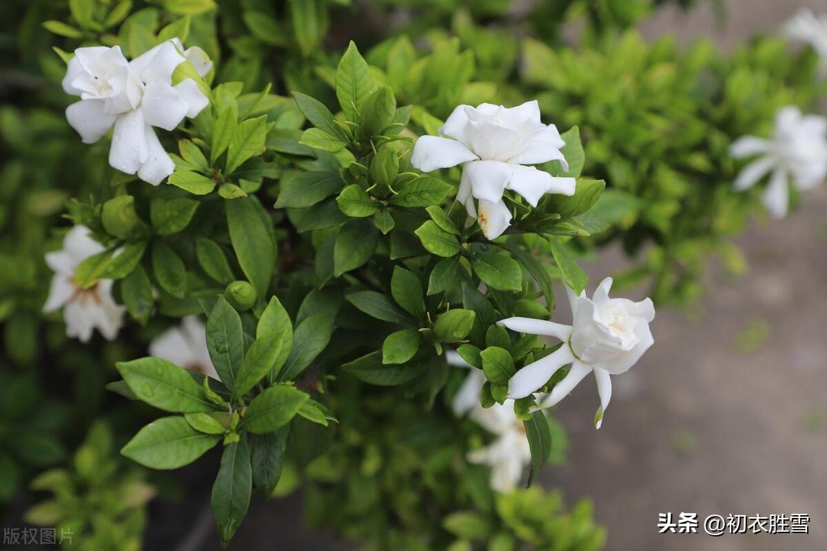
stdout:
POLYGON ((210 498, 218 537, 225 546, 244 520, 251 494, 250 447, 246 435, 241 435, 237 442, 224 447, 210 498))

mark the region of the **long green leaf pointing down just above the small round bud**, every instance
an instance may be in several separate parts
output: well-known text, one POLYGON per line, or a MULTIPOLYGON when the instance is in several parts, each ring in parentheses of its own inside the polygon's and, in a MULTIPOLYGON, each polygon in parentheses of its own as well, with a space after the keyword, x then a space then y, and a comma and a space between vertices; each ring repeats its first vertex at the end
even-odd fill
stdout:
POLYGON ((270 234, 270 218, 253 197, 225 202, 232 249, 246 278, 258 296, 267 296, 275 269, 276 250, 270 234))

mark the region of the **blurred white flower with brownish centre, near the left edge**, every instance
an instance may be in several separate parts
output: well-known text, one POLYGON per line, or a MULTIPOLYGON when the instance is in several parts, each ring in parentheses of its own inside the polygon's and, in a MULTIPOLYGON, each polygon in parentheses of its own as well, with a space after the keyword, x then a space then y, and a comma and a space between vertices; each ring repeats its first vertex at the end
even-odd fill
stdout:
POLYGON ((52 276, 49 297, 43 311, 63 308, 66 336, 84 343, 97 329, 107 340, 117 335, 123 324, 126 308, 112 299, 112 279, 101 279, 93 287, 82 289, 74 281, 79 264, 93 254, 103 251, 103 245, 89 236, 85 226, 74 226, 63 241, 63 249, 45 254, 52 276))

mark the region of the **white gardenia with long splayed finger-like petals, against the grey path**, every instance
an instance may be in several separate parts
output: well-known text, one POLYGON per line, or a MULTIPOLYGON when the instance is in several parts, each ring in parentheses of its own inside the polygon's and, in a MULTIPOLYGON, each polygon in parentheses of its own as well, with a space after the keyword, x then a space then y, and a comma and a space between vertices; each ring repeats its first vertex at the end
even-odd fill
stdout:
POLYGON ((536 392, 558 369, 571 363, 569 373, 543 397, 539 407, 554 406, 586 375, 594 372, 600 395, 595 428, 600 429, 612 397, 610 376, 628 371, 654 344, 649 330, 649 323, 655 318, 652 300, 632 302, 626 298, 609 298, 611 287, 612 278, 605 278, 592 298, 586 297, 585 291, 577 297, 566 287, 573 325, 525 317, 510 317, 497 322, 520 333, 556 337, 563 341, 552 354, 529 363, 514 374, 509 381, 509 398, 523 398, 536 392))

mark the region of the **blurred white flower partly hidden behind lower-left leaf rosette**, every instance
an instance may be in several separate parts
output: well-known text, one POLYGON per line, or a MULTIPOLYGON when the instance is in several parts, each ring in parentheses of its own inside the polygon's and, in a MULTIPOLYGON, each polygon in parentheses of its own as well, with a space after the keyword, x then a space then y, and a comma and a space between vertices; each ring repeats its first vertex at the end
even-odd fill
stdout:
POLYGON ((184 316, 150 343, 150 355, 219 380, 207 349, 207 328, 198 316, 184 316))

